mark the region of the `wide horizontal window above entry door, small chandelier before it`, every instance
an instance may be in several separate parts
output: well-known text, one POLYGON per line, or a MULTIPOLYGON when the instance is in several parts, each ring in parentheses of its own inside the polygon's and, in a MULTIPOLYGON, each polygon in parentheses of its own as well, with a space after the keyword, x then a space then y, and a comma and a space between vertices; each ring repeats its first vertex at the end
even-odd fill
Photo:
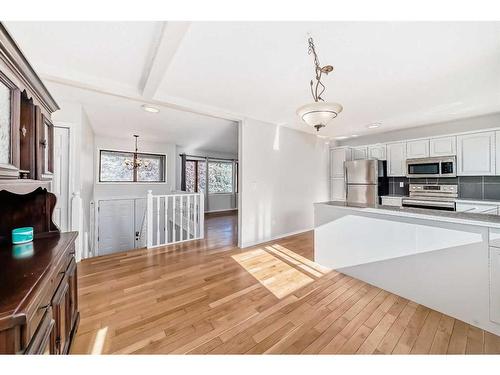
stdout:
POLYGON ((101 150, 99 158, 100 182, 165 182, 165 155, 135 154, 133 152, 101 150), (142 160, 149 167, 127 167, 126 160, 142 160))

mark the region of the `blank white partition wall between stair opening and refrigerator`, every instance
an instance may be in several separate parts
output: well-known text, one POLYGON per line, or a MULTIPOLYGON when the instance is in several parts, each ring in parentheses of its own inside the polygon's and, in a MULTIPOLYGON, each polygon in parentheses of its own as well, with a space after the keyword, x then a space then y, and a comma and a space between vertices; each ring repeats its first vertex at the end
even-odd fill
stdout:
POLYGON ((328 144, 257 120, 240 135, 241 246, 314 226, 314 202, 328 200, 328 144))

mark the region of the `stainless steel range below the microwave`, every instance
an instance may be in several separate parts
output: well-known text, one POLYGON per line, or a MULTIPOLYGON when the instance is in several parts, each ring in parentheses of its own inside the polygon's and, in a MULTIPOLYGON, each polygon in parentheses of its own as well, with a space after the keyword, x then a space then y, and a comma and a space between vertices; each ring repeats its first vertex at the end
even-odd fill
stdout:
POLYGON ((403 198, 403 206, 455 211, 457 197, 457 185, 410 184, 410 196, 403 198))

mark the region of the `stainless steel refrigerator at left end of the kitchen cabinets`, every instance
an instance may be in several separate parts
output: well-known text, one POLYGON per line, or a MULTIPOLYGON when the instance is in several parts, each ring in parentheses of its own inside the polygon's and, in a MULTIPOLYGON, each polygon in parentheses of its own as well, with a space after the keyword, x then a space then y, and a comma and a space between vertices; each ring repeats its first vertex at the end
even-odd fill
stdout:
POLYGON ((347 203, 379 204, 380 196, 389 193, 385 160, 345 162, 347 203))

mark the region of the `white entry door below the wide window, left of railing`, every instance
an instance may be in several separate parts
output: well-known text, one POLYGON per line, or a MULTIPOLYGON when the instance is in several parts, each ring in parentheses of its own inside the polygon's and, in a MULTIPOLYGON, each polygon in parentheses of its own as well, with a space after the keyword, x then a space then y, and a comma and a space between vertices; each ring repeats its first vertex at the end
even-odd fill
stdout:
POLYGON ((97 255, 135 248, 134 199, 99 201, 98 204, 97 255))

